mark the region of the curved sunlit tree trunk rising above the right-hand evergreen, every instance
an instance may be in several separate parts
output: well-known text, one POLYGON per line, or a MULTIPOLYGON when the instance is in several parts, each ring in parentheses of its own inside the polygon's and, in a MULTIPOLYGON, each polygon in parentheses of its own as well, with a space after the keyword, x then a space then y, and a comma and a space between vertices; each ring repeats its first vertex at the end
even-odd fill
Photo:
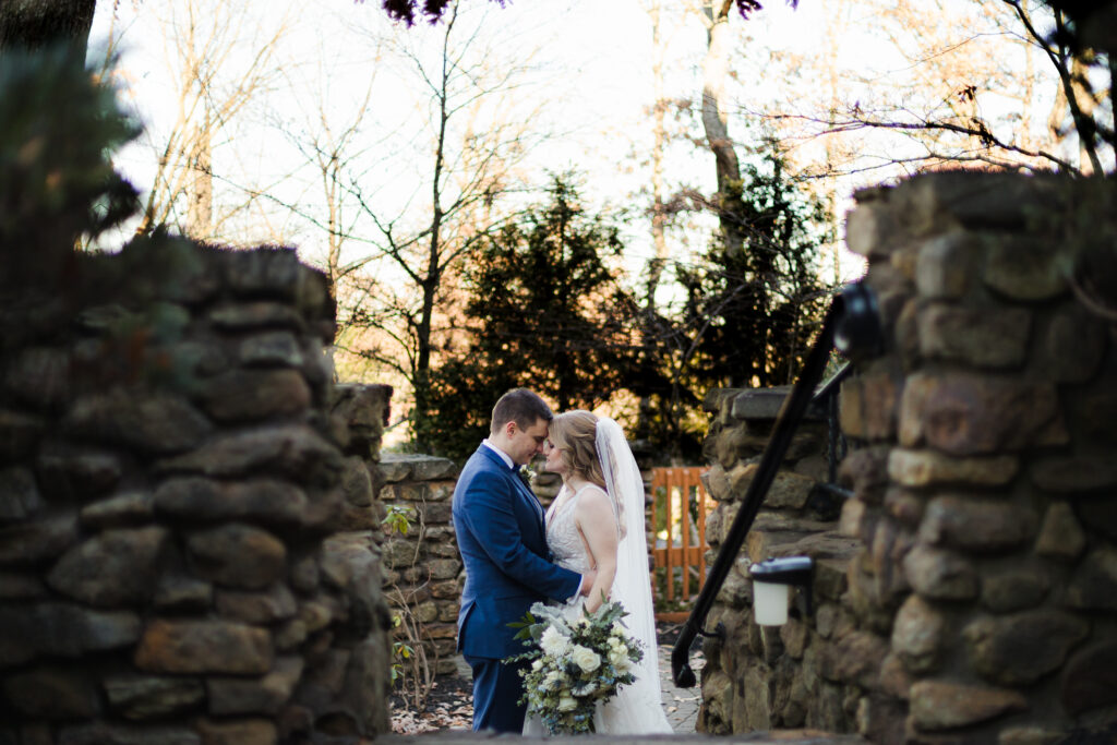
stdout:
POLYGON ((707 19, 706 59, 703 63, 701 123, 717 168, 717 211, 722 237, 731 256, 741 252, 741 226, 734 218, 741 202, 741 168, 729 139, 725 107, 725 78, 729 70, 729 11, 733 0, 710 0, 703 6, 707 19))

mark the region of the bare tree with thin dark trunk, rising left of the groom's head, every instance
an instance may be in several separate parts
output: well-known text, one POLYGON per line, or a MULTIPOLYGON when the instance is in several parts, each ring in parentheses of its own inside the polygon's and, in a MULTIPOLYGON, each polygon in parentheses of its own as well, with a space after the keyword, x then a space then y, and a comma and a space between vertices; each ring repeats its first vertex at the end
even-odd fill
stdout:
POLYGON ((360 105, 338 117, 318 101, 300 122, 280 125, 314 185, 265 197, 322 246, 342 363, 362 361, 402 383, 421 432, 430 371, 458 335, 456 278, 509 217, 505 201, 525 181, 517 164, 545 97, 532 104, 523 95, 534 51, 508 61, 491 18, 457 2, 437 27, 397 29, 386 39, 372 31, 366 41, 376 58, 360 105), (391 108, 375 106, 384 90, 391 108))

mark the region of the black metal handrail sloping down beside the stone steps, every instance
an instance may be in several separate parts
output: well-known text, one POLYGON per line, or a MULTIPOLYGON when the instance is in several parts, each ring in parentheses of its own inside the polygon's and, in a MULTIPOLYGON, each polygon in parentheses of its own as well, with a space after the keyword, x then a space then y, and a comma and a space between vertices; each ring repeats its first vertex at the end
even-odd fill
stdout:
POLYGON ((679 688, 690 688, 696 681, 695 674, 690 669, 690 646, 695 638, 698 634, 704 637, 718 636, 716 632, 710 633, 703 629, 706 617, 709 615, 714 600, 733 567, 741 546, 752 528, 753 520, 756 519, 756 513, 760 512, 761 505, 767 496, 768 488, 771 488, 776 471, 780 469, 780 464, 783 462, 783 457, 787 452, 787 446, 791 445, 791 439, 808 407, 815 401, 825 401, 828 404, 831 429, 830 483, 832 485, 839 447, 834 434, 838 429, 836 393, 841 381, 850 374, 852 361, 872 356, 879 351, 880 343, 880 319, 876 298, 861 283, 847 286, 834 297, 822 321, 822 331, 806 355, 806 362, 799 380, 795 381, 791 393, 780 409, 767 446, 761 456, 756 475, 745 493, 741 510, 734 518, 733 525, 722 543, 722 548, 706 576, 706 583, 695 600, 694 609, 686 623, 682 624, 679 638, 671 649, 671 678, 679 688), (817 389, 830 360, 830 351, 834 347, 851 362, 842 366, 821 389, 817 389))

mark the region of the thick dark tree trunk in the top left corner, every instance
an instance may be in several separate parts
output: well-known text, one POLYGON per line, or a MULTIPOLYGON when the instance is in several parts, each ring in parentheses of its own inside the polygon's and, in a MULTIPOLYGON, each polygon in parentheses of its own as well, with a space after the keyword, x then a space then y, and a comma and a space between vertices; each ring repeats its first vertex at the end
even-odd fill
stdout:
POLYGON ((96 0, 3 0, 0 2, 0 54, 69 41, 85 64, 96 0))

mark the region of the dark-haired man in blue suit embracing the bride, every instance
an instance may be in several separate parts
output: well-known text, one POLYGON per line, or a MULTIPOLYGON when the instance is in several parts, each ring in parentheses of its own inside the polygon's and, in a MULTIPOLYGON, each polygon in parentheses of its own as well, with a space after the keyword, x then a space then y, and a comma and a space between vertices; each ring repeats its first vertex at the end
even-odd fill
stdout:
POLYGON ((543 508, 519 467, 542 451, 551 409, 526 389, 493 409, 489 437, 469 457, 454 489, 454 528, 466 567, 458 649, 474 671, 474 730, 519 734, 526 707, 519 666, 500 660, 526 651, 509 623, 533 603, 586 594, 593 575, 552 564, 543 508))

